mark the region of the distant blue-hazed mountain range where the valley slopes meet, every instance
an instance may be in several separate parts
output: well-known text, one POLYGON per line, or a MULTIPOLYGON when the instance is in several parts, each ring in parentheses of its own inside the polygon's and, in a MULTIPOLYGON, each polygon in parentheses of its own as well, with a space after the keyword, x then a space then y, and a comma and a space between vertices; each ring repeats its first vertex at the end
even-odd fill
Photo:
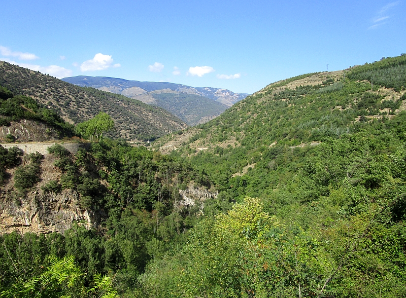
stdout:
POLYGON ((78 76, 64 78, 62 81, 121 94, 163 107, 192 126, 216 118, 228 107, 250 95, 234 93, 227 89, 195 88, 182 84, 129 81, 109 77, 78 76))

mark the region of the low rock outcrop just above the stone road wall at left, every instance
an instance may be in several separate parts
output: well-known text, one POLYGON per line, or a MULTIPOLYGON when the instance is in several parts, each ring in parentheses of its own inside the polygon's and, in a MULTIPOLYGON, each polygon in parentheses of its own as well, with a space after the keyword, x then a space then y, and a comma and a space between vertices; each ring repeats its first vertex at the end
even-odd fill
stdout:
POLYGON ((10 126, 0 126, 0 139, 6 139, 6 135, 13 135, 21 142, 43 142, 58 139, 58 132, 49 126, 31 120, 22 119, 19 122, 12 121, 10 126))

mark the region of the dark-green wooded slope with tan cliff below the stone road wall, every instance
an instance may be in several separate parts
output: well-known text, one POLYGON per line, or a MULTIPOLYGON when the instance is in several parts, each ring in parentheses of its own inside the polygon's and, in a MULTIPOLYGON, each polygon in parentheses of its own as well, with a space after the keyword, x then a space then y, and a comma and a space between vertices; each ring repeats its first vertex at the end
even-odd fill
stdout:
MULTIPOLYGON (((75 272, 86 272, 86 277, 73 282, 72 289, 63 287, 67 281, 58 286, 54 280, 57 295, 81 296, 76 286, 88 287, 99 273, 114 275, 121 291, 133 288, 150 259, 183 245, 185 233, 201 214, 198 204, 182 204, 179 190, 201 176, 184 159, 108 139, 91 143, 88 151, 80 150, 75 156, 58 144, 49 148, 46 157, 21 157, 16 148, 0 149, 4 171, 0 215, 3 220, 14 216, 13 222, 2 222, 3 233, 13 227, 27 231, 49 225, 50 220, 58 227, 72 220, 66 216, 72 211, 95 218, 77 222, 64 235, 13 232, 0 236, 4 243, 0 296, 8 296, 13 289, 21 289, 21 297, 35 296, 47 285, 37 280, 30 287, 32 280, 67 256, 75 258, 79 270, 75 272)), ((71 273, 63 274, 70 277, 71 273)))

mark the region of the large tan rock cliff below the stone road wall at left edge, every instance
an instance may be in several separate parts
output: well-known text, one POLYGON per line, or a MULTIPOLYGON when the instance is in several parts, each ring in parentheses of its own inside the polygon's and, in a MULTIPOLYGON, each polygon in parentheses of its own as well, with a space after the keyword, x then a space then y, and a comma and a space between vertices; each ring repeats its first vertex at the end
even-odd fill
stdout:
POLYGON ((0 187, 0 233, 64 233, 77 222, 87 229, 98 226, 100 214, 83 210, 80 195, 74 190, 47 193, 42 185, 58 180, 61 172, 54 167, 55 157, 45 155, 40 167, 40 182, 28 193, 18 195, 14 188, 15 169, 7 170, 10 178, 0 187))

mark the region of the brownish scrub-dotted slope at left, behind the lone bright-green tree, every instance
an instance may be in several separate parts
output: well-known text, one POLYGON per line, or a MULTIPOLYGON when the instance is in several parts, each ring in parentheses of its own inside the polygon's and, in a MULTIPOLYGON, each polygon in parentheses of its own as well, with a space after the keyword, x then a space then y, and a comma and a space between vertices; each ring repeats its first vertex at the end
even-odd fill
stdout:
POLYGON ((116 123, 116 131, 111 136, 127 140, 152 140, 186 127, 180 119, 162 108, 122 95, 75 86, 3 61, 0 61, 0 86, 15 95, 39 100, 72 124, 104 111, 116 123))

